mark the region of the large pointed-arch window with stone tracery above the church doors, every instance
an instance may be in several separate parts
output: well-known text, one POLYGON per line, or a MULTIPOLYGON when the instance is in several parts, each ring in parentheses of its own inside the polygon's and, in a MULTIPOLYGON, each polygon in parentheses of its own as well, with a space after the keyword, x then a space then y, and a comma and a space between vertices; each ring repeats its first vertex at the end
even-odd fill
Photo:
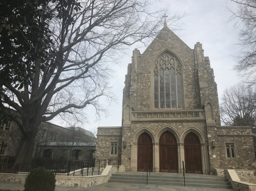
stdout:
POLYGON ((170 52, 164 52, 154 68, 155 108, 182 108, 181 63, 170 52))

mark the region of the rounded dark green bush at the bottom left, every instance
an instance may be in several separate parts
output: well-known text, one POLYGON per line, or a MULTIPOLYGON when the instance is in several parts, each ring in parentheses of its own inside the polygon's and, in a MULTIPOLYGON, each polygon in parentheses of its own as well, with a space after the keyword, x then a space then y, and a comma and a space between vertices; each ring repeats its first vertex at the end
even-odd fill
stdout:
POLYGON ((26 178, 24 191, 54 191, 55 182, 52 172, 42 167, 34 168, 26 178))

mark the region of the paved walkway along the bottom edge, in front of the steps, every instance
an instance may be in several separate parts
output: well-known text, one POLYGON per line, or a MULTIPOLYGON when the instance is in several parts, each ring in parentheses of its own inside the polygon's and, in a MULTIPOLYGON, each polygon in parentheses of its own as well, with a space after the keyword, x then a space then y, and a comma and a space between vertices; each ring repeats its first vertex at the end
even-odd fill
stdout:
MULTIPOLYGON (((12 184, 0 182, 0 191, 2 190, 19 190, 23 191, 23 184, 12 184)), ((55 191, 231 191, 233 189, 218 189, 218 188, 197 188, 184 186, 164 186, 154 184, 123 184, 109 182, 89 188, 72 188, 56 186, 55 191)))

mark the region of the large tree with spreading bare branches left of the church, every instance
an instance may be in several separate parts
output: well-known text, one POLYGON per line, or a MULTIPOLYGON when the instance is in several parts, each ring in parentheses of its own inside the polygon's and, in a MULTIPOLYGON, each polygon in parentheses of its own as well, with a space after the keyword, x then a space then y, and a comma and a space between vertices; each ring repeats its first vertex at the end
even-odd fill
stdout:
POLYGON ((165 12, 150 12, 141 0, 3 1, 0 7, 0 108, 21 118, 5 112, 22 132, 17 163, 31 162, 42 121, 76 117, 89 104, 101 111, 98 99, 112 96, 115 53, 154 37, 165 12))

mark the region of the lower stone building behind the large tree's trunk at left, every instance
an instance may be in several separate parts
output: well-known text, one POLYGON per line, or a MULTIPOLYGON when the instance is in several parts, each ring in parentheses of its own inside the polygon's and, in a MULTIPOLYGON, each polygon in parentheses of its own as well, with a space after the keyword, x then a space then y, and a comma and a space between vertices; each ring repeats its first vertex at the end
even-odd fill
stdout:
MULTIPOLYGON (((0 122, 0 167, 13 163, 20 141, 20 130, 14 121, 0 122)), ((83 160, 92 159, 96 148, 96 137, 88 130, 63 128, 42 122, 36 136, 34 159, 38 160, 83 160)))

